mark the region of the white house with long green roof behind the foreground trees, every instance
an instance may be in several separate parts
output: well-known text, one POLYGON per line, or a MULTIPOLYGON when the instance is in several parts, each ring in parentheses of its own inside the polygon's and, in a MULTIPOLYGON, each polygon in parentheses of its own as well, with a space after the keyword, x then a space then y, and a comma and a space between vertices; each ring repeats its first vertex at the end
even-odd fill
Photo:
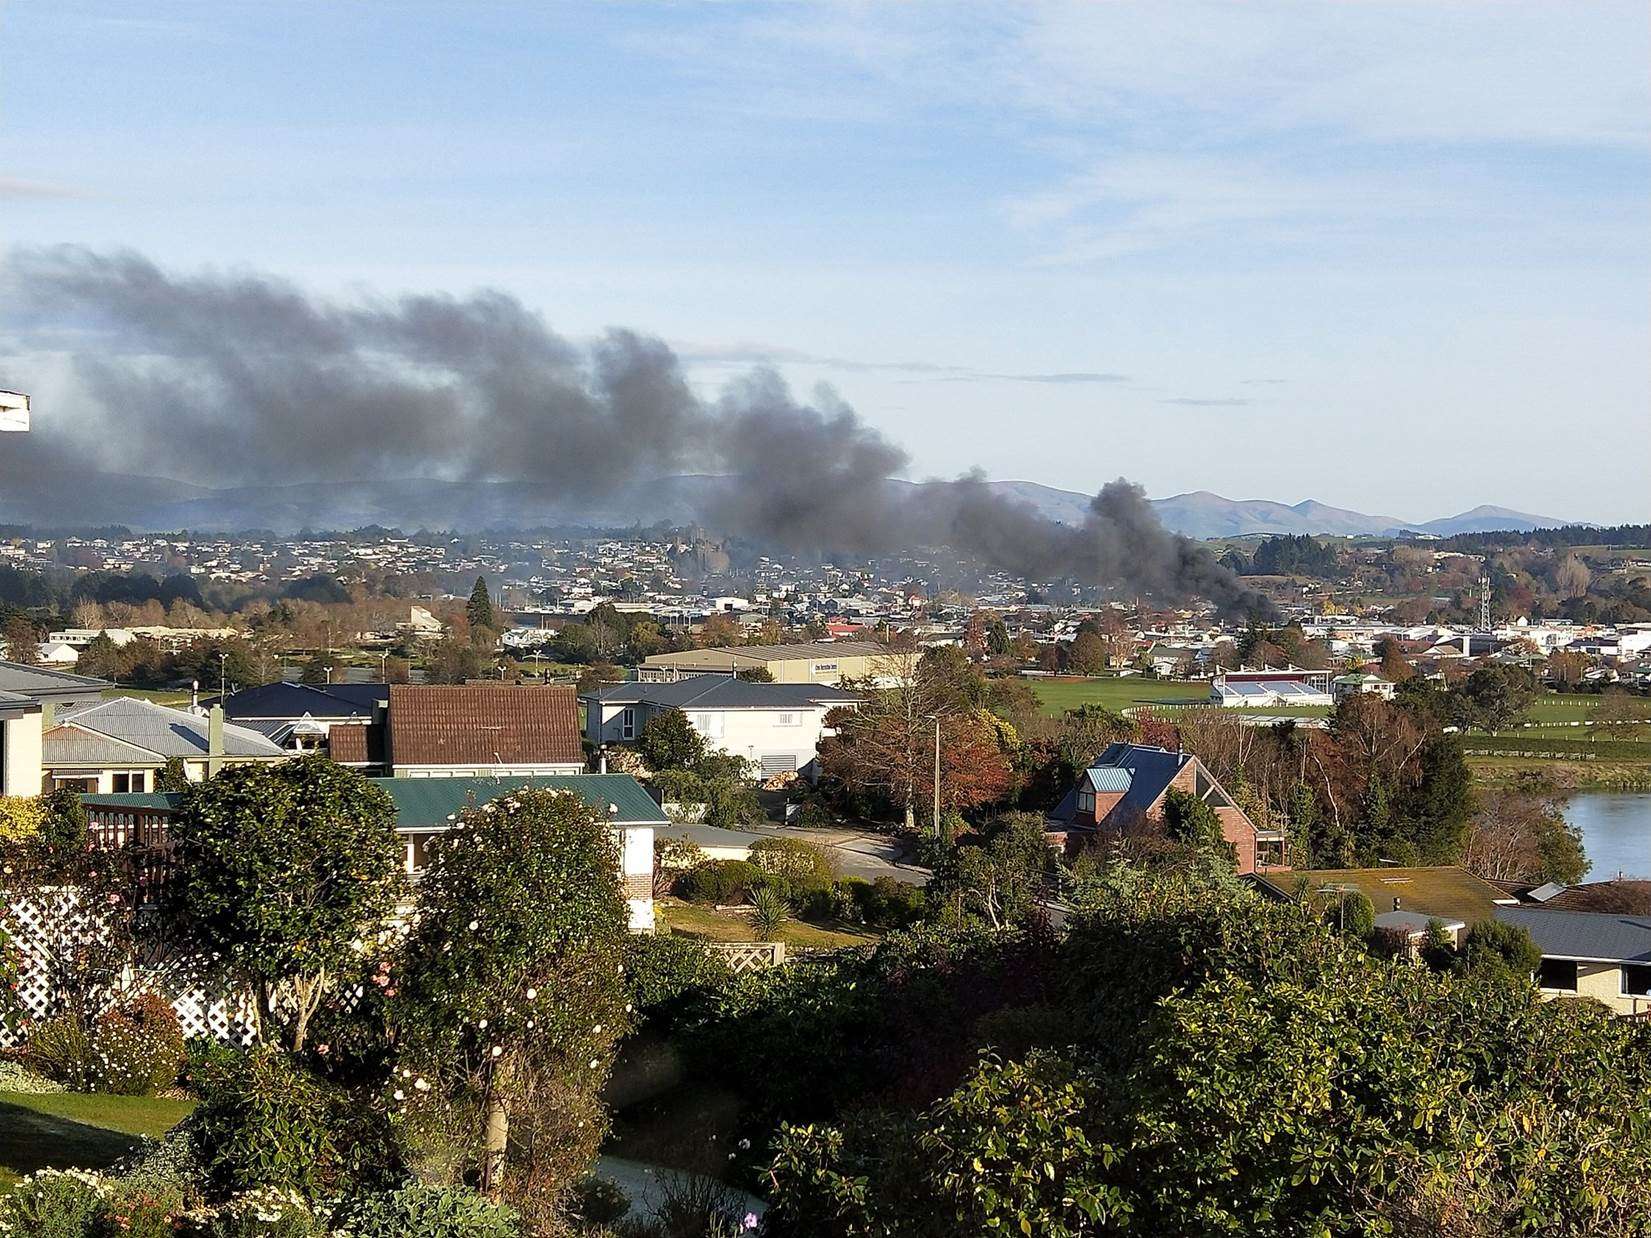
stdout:
MULTIPOLYGON (((654 931, 654 830, 667 825, 642 786, 627 774, 573 774, 548 777, 375 777, 375 786, 396 806, 396 834, 404 847, 406 872, 418 878, 429 843, 451 829, 466 807, 487 804, 522 787, 571 791, 608 820, 619 842, 619 883, 629 908, 632 933, 654 931)), ((163 853, 167 827, 177 815, 178 794, 84 794, 94 843, 114 850, 135 845, 163 853)), ((163 878, 163 860, 149 872, 163 878)))

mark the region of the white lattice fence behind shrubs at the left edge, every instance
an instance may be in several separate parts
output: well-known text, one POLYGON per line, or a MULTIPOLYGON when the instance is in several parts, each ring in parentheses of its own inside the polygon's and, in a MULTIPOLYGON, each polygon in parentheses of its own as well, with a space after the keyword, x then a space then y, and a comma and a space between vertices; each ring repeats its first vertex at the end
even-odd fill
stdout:
MULTIPOLYGON (((7 933, 18 954, 17 995, 25 1023, 17 1032, 0 1027, 0 1047, 12 1048, 26 1037, 28 1023, 63 1010, 68 994, 59 977, 76 952, 109 949, 109 934, 99 914, 83 906, 73 888, 46 888, 12 895, 0 908, 7 933)), ((226 994, 206 977, 205 959, 165 946, 135 947, 116 961, 112 1002, 124 994, 155 992, 178 1015, 185 1037, 213 1037, 229 1043, 251 1040, 251 1004, 244 995, 226 994)))

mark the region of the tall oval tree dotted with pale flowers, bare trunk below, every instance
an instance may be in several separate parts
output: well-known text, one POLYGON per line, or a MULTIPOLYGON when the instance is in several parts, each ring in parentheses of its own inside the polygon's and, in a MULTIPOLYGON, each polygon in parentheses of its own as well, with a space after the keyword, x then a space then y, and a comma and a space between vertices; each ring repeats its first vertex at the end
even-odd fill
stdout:
MULTIPOLYGON (((452 1165, 548 1203, 588 1172, 626 1023, 626 905, 609 824, 571 792, 466 809, 431 847, 401 952, 403 1089, 452 1122, 452 1165)), ((543 1208, 535 1208, 543 1212, 543 1208)))

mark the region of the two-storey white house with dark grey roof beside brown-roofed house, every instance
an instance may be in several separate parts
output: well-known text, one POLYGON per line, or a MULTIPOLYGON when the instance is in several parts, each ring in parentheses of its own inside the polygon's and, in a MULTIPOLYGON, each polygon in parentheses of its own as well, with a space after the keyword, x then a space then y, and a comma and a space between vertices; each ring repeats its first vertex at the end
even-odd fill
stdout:
POLYGON ((650 718, 682 710, 707 748, 743 756, 763 774, 794 771, 816 777, 826 715, 860 698, 824 683, 748 683, 721 672, 672 683, 616 683, 580 700, 584 738, 598 748, 629 743, 650 718))

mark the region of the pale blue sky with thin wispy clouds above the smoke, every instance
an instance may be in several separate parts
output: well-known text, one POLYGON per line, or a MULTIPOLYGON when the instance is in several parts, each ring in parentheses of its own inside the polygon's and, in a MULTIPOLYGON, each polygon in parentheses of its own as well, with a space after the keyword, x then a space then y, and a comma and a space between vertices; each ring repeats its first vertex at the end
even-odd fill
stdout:
POLYGON ((1643 522, 1648 63, 1638 0, 0 0, 0 248, 505 289, 915 477, 1643 522))

